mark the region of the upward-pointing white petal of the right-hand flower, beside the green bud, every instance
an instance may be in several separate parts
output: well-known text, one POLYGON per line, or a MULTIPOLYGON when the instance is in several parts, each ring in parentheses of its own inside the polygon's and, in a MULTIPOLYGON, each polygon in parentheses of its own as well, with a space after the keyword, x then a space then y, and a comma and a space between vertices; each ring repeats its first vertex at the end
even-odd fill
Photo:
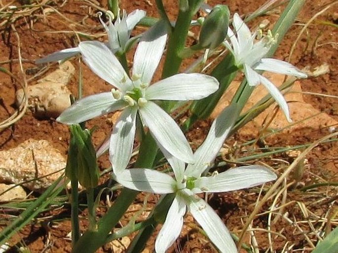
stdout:
POLYGON ((252 37, 248 26, 244 23, 238 13, 233 14, 232 25, 237 33, 239 51, 244 52, 246 50, 251 50, 254 44, 254 38, 252 37))

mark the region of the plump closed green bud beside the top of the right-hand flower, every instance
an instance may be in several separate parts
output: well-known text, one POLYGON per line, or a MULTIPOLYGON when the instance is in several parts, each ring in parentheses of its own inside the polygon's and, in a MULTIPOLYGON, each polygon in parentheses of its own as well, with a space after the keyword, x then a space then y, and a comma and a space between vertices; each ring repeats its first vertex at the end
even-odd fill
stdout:
POLYGON ((205 18, 199 33, 199 45, 202 48, 215 49, 225 39, 229 26, 230 12, 226 5, 216 5, 205 18))

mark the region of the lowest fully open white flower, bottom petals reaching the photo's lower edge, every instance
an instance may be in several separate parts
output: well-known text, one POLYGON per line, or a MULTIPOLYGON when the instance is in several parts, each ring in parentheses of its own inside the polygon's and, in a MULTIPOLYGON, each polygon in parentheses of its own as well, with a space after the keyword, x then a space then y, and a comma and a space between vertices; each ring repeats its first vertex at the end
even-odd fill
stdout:
POLYGON ((185 163, 162 151, 171 165, 175 179, 150 169, 126 169, 114 179, 123 186, 151 193, 175 193, 165 222, 157 235, 156 253, 164 253, 177 239, 183 226, 187 207, 220 252, 237 253, 236 246, 223 221, 196 193, 225 192, 253 187, 276 179, 276 175, 259 165, 243 166, 212 176, 201 176, 215 159, 228 135, 238 112, 235 106, 225 109, 213 122, 204 143, 194 153, 194 164, 185 163))

